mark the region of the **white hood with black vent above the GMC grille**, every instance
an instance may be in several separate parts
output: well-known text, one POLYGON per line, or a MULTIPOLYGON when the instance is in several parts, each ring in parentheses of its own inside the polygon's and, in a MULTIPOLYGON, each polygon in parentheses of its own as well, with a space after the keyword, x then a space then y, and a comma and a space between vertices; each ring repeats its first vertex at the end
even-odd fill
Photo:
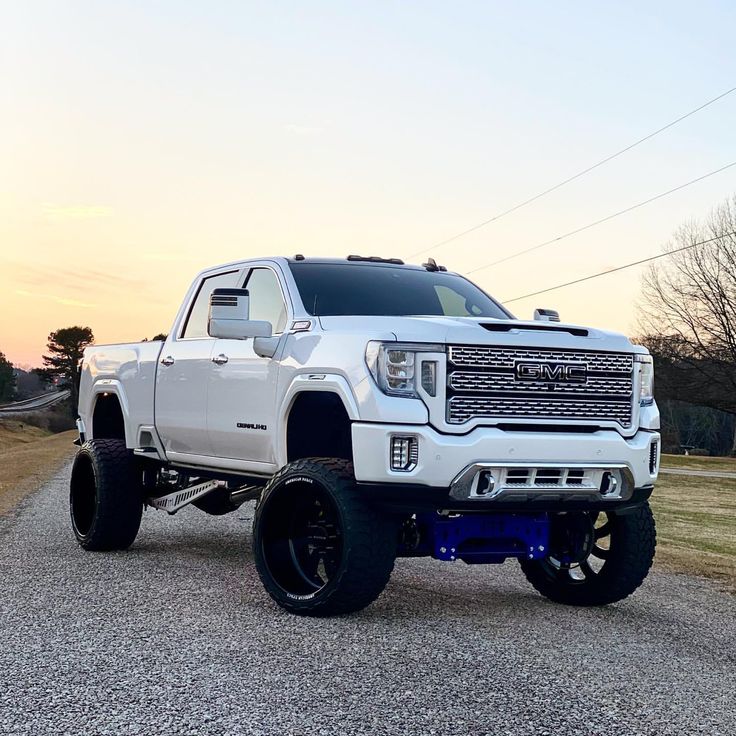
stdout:
MULTIPOLYGON (((320 317, 325 330, 393 333, 399 342, 646 353, 618 332, 561 322, 476 317, 320 317), (366 324, 370 326, 366 330, 366 324)), ((370 339, 370 335, 367 335, 370 339)))

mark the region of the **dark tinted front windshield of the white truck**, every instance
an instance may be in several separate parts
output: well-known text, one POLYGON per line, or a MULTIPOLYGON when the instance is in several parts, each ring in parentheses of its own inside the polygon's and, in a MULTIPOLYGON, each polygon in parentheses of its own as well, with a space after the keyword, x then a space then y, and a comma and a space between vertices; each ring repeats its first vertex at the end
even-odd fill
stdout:
POLYGON ((314 316, 492 317, 510 315, 462 276, 372 263, 290 263, 314 316))

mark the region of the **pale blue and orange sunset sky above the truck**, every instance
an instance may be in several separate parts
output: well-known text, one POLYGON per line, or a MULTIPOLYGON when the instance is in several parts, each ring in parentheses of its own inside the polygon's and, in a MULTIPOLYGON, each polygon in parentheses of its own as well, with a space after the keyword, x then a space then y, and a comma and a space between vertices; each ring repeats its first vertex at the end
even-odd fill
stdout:
MULTIPOLYGON (((168 331, 195 273, 407 258, 736 86, 731 2, 0 0, 0 351, 168 331)), ((736 161, 736 93, 430 255, 471 269, 736 161)), ((736 167, 472 278, 653 255, 736 167)), ((422 256, 412 260, 421 261, 422 256)), ((632 269, 510 305, 636 332, 632 269)))

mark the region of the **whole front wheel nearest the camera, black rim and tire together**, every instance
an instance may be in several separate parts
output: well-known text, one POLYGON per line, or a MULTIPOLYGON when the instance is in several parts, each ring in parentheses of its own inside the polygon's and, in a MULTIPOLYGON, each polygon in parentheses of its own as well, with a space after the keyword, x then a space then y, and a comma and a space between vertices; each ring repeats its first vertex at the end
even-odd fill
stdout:
POLYGON ((398 523, 365 504, 345 460, 285 466, 266 486, 253 521, 258 574, 269 595, 305 616, 358 611, 386 587, 398 523))

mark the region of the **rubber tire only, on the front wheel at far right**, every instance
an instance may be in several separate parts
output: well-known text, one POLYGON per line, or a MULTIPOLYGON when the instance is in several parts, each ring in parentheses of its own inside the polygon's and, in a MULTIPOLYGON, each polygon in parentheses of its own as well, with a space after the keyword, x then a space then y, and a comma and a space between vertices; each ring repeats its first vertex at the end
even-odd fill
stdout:
POLYGON ((573 580, 549 558, 521 561, 524 575, 539 593, 555 603, 604 606, 630 596, 644 582, 657 543, 649 503, 607 515, 611 524, 610 550, 598 573, 573 580))

